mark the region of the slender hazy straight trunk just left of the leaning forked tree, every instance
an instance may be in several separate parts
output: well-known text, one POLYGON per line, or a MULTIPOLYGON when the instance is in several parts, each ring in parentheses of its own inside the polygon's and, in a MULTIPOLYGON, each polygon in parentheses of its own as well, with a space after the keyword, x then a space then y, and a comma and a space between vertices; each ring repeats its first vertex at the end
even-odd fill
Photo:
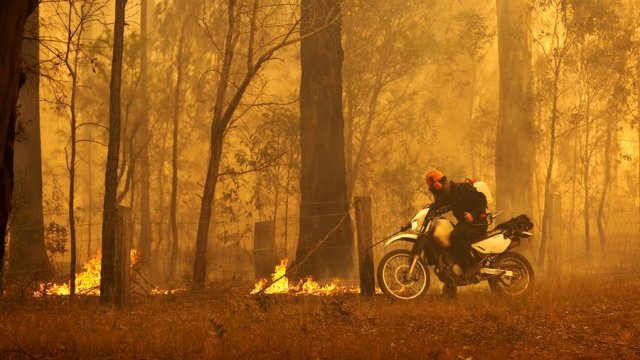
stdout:
POLYGON ((171 258, 169 259, 169 280, 175 280, 178 266, 178 131, 180 118, 180 92, 182 91, 182 73, 183 73, 183 53, 185 40, 185 21, 180 31, 180 40, 178 41, 178 54, 176 56, 176 86, 173 101, 173 143, 172 143, 172 159, 171 159, 171 258))

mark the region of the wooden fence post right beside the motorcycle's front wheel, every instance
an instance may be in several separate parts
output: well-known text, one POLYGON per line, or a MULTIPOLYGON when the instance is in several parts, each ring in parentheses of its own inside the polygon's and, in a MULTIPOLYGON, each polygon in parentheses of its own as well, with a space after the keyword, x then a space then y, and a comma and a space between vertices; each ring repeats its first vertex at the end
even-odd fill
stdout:
POLYGON ((357 196, 355 202, 360 295, 373 296, 376 292, 376 284, 373 272, 373 249, 371 248, 373 244, 371 196, 357 196))

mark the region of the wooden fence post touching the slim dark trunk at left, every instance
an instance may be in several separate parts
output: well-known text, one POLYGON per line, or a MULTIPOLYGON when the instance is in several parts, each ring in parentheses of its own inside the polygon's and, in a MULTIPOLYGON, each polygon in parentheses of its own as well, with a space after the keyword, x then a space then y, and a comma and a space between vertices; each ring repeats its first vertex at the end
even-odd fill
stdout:
POLYGON ((132 233, 131 209, 118 206, 114 264, 115 302, 118 307, 129 302, 132 233))

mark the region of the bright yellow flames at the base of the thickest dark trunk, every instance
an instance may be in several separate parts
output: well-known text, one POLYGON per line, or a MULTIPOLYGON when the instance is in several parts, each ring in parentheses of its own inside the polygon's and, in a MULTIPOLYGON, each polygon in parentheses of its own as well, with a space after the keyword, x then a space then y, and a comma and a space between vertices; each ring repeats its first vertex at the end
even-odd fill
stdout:
POLYGON ((275 272, 271 274, 271 285, 267 279, 258 280, 251 294, 264 292, 265 294, 291 294, 291 295, 338 295, 347 293, 359 293, 360 288, 357 286, 347 287, 341 284, 340 279, 333 279, 330 284, 320 285, 313 280, 311 276, 307 276, 304 280, 300 280, 297 285, 289 284, 289 279, 285 276, 289 259, 283 258, 280 264, 276 265, 275 272), (268 287, 267 287, 268 286, 268 287))

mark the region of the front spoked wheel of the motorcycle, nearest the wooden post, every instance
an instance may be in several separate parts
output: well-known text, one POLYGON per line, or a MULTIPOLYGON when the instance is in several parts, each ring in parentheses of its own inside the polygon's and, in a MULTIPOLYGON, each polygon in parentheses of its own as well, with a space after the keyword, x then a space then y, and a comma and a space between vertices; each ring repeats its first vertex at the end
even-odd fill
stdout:
POLYGON ((378 265, 378 283, 386 295, 410 300, 423 296, 429 290, 427 263, 418 258, 413 273, 409 274, 413 256, 409 250, 393 250, 378 265))

